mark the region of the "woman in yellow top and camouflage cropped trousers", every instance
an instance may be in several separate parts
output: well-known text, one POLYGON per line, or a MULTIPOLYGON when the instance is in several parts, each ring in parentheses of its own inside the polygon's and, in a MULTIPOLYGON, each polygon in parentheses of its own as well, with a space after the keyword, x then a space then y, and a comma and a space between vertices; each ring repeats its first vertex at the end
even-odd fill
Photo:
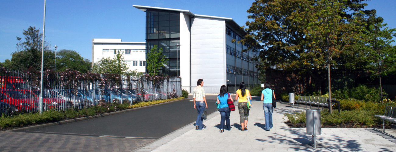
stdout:
POLYGON ((249 109, 247 108, 247 98, 251 99, 250 92, 245 88, 245 83, 239 84, 239 89, 236 90, 235 100, 238 100, 238 110, 242 131, 247 130, 247 120, 249 120, 249 109), (239 98, 239 100, 238 100, 239 98))

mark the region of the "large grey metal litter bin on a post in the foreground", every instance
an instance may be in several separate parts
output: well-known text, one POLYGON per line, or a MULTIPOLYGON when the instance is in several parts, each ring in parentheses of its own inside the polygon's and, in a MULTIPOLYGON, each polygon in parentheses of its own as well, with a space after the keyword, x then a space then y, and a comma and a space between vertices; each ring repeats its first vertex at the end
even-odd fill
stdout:
POLYGON ((306 110, 307 135, 312 135, 312 144, 316 148, 316 135, 322 134, 322 124, 320 122, 320 110, 306 110))

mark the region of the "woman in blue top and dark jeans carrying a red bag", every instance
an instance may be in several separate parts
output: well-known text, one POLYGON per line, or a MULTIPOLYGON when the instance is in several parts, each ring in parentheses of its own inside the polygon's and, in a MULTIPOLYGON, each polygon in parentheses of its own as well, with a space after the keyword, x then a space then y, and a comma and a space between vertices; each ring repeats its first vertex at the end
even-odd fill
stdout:
MULTIPOLYGON (((228 107, 228 96, 231 96, 227 92, 227 86, 223 85, 220 87, 220 94, 217 96, 217 104, 219 104, 219 112, 221 115, 221 120, 220 120, 220 132, 224 132, 224 120, 226 122, 227 130, 231 129, 231 124, 230 124, 230 108, 228 107)), ((231 101, 232 98, 230 97, 231 101)), ((232 101, 234 102, 234 101, 232 101)))

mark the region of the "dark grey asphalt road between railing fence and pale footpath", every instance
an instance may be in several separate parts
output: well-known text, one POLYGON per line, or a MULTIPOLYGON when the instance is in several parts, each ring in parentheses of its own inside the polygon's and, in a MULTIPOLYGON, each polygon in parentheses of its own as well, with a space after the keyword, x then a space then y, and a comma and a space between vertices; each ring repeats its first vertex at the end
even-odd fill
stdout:
MULTIPOLYGON (((207 97, 208 114, 216 111, 215 98, 207 97)), ((197 111, 192 98, 171 103, 163 103, 125 113, 93 118, 40 129, 29 133, 49 133, 81 136, 118 136, 160 138, 191 122, 195 122, 197 111)), ((194 126, 191 126, 194 128, 194 126)))

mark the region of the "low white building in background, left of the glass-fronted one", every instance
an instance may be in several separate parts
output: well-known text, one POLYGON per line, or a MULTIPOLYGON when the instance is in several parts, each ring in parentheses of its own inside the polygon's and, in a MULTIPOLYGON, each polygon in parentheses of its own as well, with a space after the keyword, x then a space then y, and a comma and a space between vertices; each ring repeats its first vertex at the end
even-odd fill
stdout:
POLYGON ((121 50, 129 70, 146 72, 146 43, 123 42, 121 39, 92 39, 92 63, 101 58, 114 58, 114 50, 121 50))

